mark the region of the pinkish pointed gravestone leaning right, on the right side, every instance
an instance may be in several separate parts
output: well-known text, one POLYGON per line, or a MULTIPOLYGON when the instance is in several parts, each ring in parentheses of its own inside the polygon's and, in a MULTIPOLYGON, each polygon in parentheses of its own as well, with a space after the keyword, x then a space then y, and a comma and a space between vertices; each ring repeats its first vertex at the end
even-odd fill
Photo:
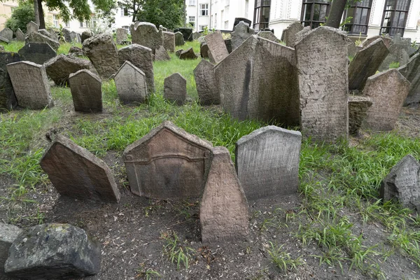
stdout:
POLYGON ((397 69, 369 77, 363 89, 363 95, 372 100, 372 106, 367 109, 367 128, 393 130, 410 86, 397 69))

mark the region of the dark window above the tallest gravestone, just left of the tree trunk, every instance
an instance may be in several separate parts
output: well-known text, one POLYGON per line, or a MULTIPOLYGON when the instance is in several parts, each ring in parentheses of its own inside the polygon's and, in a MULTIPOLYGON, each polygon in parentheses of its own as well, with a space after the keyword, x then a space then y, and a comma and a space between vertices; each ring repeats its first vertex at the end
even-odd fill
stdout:
POLYGON ((319 27, 326 21, 325 17, 330 11, 328 0, 303 0, 301 22, 303 26, 310 26, 311 29, 319 27))

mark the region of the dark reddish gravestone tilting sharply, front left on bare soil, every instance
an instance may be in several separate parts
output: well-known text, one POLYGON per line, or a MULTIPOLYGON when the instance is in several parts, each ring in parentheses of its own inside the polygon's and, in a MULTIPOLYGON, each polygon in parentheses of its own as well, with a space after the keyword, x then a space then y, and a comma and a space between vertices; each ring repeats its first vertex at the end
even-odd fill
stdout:
POLYGON ((101 202, 120 200, 108 165, 62 135, 52 142, 39 164, 60 195, 101 202))

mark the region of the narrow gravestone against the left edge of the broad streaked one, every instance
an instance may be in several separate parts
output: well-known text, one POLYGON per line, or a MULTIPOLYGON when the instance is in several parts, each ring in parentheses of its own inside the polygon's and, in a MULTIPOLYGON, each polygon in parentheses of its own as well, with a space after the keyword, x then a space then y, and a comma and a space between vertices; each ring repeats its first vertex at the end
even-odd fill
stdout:
POLYGON ((194 69, 194 78, 200 105, 221 104, 221 96, 216 85, 213 64, 206 59, 202 59, 194 69))

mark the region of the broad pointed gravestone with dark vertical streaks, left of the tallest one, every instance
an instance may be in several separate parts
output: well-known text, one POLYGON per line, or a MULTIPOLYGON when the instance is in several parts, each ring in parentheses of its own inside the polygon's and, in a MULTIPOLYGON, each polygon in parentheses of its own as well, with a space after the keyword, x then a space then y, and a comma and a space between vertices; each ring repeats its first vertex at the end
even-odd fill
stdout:
POLYGON ((223 110, 234 118, 300 124, 292 48, 253 35, 214 70, 223 110))

